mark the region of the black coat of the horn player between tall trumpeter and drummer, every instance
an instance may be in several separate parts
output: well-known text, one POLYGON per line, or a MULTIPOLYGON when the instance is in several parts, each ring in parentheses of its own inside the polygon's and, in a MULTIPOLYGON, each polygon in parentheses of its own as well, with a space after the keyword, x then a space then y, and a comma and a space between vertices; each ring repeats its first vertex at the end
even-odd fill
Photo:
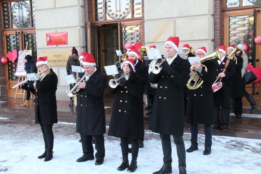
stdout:
POLYGON ((186 123, 214 124, 212 81, 216 65, 212 61, 203 62, 201 73, 197 72, 203 83, 198 89, 188 89, 186 123))

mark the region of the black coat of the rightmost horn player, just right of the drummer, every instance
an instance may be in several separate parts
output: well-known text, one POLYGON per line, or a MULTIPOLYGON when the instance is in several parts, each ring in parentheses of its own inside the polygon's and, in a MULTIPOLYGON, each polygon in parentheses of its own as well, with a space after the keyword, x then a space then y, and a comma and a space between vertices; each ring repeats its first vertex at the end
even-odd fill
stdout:
POLYGON ((231 97, 243 97, 244 96, 244 86, 241 74, 241 69, 243 67, 243 58, 236 55, 236 77, 232 79, 231 84, 231 97))

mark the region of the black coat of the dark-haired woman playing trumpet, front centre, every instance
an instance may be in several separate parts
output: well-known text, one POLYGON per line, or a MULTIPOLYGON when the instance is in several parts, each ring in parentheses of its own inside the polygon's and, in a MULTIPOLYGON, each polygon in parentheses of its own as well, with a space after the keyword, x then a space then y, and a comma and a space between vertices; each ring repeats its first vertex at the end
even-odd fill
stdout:
POLYGON ((143 99, 146 81, 140 76, 134 82, 129 80, 123 86, 107 87, 109 93, 116 94, 108 135, 140 139, 142 121, 140 113, 143 113, 141 98, 143 99))

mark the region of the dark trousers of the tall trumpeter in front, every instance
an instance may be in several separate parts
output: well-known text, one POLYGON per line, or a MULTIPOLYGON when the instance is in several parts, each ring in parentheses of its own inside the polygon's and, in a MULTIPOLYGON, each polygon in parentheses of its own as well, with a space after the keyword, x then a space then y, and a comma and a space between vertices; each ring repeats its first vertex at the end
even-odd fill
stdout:
MULTIPOLYGON (((163 162, 170 164, 172 163, 172 157, 171 157, 172 148, 171 148, 170 135, 160 134, 160 137, 161 137, 161 145, 163 151, 163 162)), ((179 166, 186 166, 186 151, 185 151, 183 136, 173 135, 173 139, 177 149, 179 166)))

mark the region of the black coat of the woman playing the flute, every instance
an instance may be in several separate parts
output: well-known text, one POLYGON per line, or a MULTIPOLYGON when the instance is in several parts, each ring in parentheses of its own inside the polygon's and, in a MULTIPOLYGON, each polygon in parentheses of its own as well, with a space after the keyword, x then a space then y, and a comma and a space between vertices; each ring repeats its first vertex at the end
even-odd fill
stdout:
MULTIPOLYGON (((58 78, 55 72, 50 69, 42 81, 36 82, 35 93, 35 123, 54 124, 57 123, 56 90, 58 78)), ((34 81, 27 81, 22 89, 34 88, 34 81)))

